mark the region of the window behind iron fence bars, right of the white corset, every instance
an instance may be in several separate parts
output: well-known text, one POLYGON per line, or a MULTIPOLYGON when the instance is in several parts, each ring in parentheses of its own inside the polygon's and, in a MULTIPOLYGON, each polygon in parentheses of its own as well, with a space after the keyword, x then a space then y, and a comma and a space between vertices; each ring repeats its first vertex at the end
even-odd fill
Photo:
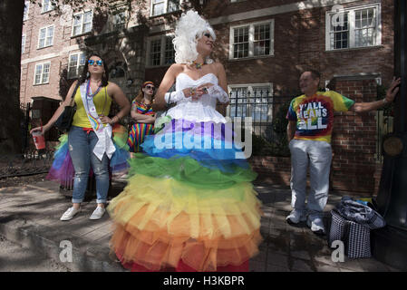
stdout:
POLYGON ((228 116, 252 117, 253 121, 271 120, 272 83, 229 86, 228 116))

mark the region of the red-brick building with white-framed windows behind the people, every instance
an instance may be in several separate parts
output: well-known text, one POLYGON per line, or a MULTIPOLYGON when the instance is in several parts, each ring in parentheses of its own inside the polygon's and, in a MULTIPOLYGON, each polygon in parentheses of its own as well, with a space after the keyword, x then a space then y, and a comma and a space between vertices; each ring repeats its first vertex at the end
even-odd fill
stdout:
MULTIPOLYGON (((232 97, 227 114, 231 117, 269 121, 273 108, 268 102, 255 110, 250 104, 262 103, 262 92, 267 92, 268 98, 294 97, 299 75, 309 67, 322 73, 321 87, 335 80, 332 88, 364 102, 375 100, 371 92, 374 83, 388 84, 392 79, 392 0, 196 2, 202 5, 202 13, 217 33, 213 58, 224 63, 227 71, 232 97), (354 82, 353 86, 346 86, 347 82, 354 82), (233 98, 242 104, 233 102, 233 98)), ((92 7, 78 13, 63 7, 63 15, 53 18, 49 16, 53 7, 48 0, 43 0, 42 7, 26 3, 20 94, 24 103, 33 97, 61 100, 88 51, 102 54, 110 67, 111 81, 118 83, 130 99, 145 80, 160 83, 174 62, 171 39, 175 21, 182 10, 192 6, 186 0, 146 0, 142 7, 133 7, 129 15, 121 1, 111 1, 115 12, 109 15, 97 14, 92 7)), ((346 133, 347 129, 341 127, 349 121, 346 118, 356 117, 338 117, 337 135, 346 133)), ((359 140, 358 145, 352 143, 354 135, 348 130, 348 135, 334 140, 335 154, 346 154, 339 147, 346 142, 362 146, 348 149, 355 155, 365 149, 363 146, 369 147, 368 154, 374 154, 370 150, 377 141, 375 114, 363 118, 370 118, 363 119, 370 134, 363 140, 366 144, 361 145, 359 140)), ((375 167, 374 160, 371 163, 375 167)), ((334 160, 333 164, 340 167, 338 164, 344 166, 345 162, 334 160)), ((355 163, 346 164, 351 169, 355 163)))

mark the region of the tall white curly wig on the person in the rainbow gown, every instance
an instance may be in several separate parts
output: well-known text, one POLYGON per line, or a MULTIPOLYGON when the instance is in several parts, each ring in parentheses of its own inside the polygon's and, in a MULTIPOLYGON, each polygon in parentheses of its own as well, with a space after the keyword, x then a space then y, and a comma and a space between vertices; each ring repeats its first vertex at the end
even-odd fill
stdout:
MULTIPOLYGON (((208 21, 199 16, 198 12, 189 10, 183 13, 175 28, 175 37, 172 40, 175 49, 175 63, 192 63, 198 57, 198 39, 208 32, 213 40, 216 39, 215 32, 208 21)), ((213 63, 210 58, 206 63, 213 63)))

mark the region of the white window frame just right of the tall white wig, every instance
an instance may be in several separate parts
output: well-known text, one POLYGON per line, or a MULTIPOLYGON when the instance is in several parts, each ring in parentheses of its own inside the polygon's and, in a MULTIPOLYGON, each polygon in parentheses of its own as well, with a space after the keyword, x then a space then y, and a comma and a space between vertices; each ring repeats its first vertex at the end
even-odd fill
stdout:
POLYGON ((229 28, 229 60, 243 60, 247 58, 260 58, 260 57, 268 57, 274 56, 274 18, 254 23, 247 23, 247 24, 240 24, 240 25, 233 25, 229 28), (255 26, 260 24, 269 24, 270 25, 270 52, 264 55, 255 55, 255 26), (243 28, 248 26, 248 55, 245 57, 237 57, 235 58, 233 53, 233 45, 234 45, 234 33, 235 29, 243 28))

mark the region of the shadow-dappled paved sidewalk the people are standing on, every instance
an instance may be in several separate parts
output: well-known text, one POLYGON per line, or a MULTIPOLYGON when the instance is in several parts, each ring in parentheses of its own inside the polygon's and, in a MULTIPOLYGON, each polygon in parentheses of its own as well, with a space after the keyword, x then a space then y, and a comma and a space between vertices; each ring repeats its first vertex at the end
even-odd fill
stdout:
MULTIPOLYGON (((115 189, 123 183, 113 182, 115 189)), ((291 211, 291 193, 265 184, 257 184, 258 198, 263 202, 264 217, 261 234, 264 238, 260 253, 250 260, 253 272, 370 272, 398 271, 373 258, 348 259, 333 262, 332 250, 326 237, 315 236, 308 227, 289 226, 286 215, 291 211)), ((325 223, 329 210, 340 200, 331 194, 325 208, 325 223)), ((38 181, 21 188, 0 189, 0 235, 25 247, 44 252, 60 261, 62 241, 73 245, 73 262, 63 266, 72 271, 125 271, 110 255, 109 240, 112 222, 108 214, 100 220, 89 217, 96 207, 95 200, 84 202, 82 211, 71 221, 60 221, 71 206, 70 198, 59 192, 52 181, 38 181), (60 247, 61 246, 61 247, 60 247)), ((7 263, 6 260, 0 261, 7 263)))

